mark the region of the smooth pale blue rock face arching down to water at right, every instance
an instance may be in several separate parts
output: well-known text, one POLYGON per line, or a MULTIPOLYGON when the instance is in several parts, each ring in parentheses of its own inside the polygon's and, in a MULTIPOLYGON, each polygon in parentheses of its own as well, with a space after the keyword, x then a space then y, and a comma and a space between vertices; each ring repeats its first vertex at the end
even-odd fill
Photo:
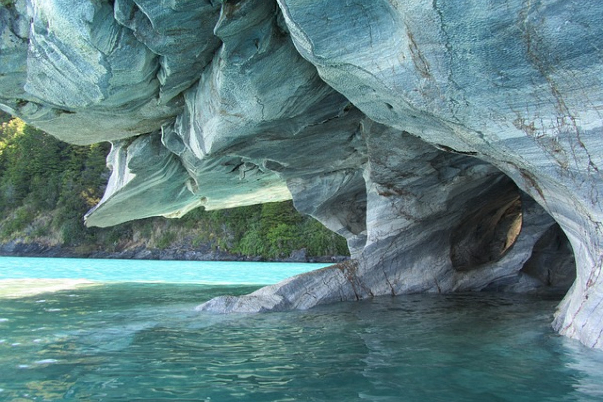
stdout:
POLYGON ((279 4, 300 54, 369 118, 493 163, 551 214, 577 269, 555 327, 601 347, 603 5, 279 4))

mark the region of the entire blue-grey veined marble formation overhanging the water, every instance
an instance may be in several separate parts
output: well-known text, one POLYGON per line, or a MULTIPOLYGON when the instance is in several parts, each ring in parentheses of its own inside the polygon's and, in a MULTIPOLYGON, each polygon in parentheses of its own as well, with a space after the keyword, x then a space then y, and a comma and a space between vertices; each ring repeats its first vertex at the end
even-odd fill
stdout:
POLYGON ((603 347, 602 21, 594 0, 17 0, 0 107, 113 142, 89 225, 293 198, 347 239, 344 265, 201 309, 575 274, 554 325, 603 347))

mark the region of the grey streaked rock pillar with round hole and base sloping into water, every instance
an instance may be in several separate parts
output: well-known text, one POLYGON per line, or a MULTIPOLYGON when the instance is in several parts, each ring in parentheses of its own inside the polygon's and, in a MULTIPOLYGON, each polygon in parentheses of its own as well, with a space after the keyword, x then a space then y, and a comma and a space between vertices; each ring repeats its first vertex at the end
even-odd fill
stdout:
MULTIPOLYGON (((350 240, 353 260, 246 297, 217 298, 200 310, 286 310, 377 295, 538 286, 537 272, 520 270, 554 221, 510 178, 479 159, 439 151, 383 125, 365 130, 368 163, 359 175, 364 198, 355 194, 359 186, 343 187, 339 195, 363 199, 364 226, 346 221, 358 218, 353 204, 338 215, 344 227, 338 231, 350 240), (390 146, 393 139, 399 147, 390 146)), ((330 199, 338 196, 325 197, 325 187, 333 188, 305 187, 303 200, 294 190, 298 209, 332 207, 330 199)), ((336 215, 317 210, 319 219, 336 215)), ((336 229, 332 221, 326 224, 336 229)))

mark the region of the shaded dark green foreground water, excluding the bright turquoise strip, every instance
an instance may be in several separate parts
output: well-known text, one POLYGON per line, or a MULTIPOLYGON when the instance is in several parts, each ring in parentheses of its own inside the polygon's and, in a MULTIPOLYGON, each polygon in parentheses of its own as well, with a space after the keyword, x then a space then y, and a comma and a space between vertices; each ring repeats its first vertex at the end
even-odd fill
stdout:
POLYGON ((113 281, 0 298, 0 400, 603 400, 603 353, 551 330, 557 296, 408 295, 305 312, 194 311, 257 287, 113 281))

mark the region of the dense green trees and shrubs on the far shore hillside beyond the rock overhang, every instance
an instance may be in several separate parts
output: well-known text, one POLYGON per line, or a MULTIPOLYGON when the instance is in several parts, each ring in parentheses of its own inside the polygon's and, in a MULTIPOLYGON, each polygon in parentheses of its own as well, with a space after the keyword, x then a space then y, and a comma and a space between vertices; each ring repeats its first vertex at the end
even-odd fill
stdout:
MULTIPOLYGON (((1 113, 1 112, 0 112, 1 113)), ((79 250, 211 247, 267 258, 305 248, 309 256, 347 254, 345 241, 291 202, 230 210, 193 210, 181 219, 149 218, 86 228, 110 172, 108 143, 70 145, 19 119, 0 115, 0 242, 17 240, 79 250)))

